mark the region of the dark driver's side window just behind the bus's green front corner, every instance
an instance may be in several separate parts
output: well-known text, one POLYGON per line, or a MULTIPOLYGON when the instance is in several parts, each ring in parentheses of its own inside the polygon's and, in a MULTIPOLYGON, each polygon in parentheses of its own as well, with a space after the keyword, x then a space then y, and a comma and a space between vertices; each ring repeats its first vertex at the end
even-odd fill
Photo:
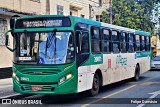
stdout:
POLYGON ((87 32, 82 34, 81 52, 89 53, 89 36, 87 32))

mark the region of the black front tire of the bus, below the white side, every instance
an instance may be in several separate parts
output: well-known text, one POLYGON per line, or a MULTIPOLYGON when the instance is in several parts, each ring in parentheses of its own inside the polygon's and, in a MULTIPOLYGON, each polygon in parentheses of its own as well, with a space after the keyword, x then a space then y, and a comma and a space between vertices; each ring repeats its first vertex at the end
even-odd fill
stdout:
POLYGON ((100 80, 99 80, 99 76, 98 74, 96 73, 94 75, 94 78, 93 78, 93 83, 92 83, 92 89, 91 89, 91 96, 95 96, 99 93, 99 88, 100 88, 100 80))

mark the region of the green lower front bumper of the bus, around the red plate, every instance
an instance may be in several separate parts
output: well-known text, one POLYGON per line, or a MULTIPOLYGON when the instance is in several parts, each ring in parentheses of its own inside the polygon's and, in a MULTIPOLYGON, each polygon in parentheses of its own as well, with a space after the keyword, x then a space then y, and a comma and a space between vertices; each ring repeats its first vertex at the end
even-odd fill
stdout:
MULTIPOLYGON (((45 83, 45 82, 44 82, 45 83)), ((73 81, 73 78, 66 80, 64 83, 58 84, 36 84, 27 83, 21 84, 16 78, 13 78, 13 90, 15 92, 21 94, 69 94, 69 93, 76 93, 77 86, 73 81), (32 90, 32 86, 41 86, 42 90, 32 90)))

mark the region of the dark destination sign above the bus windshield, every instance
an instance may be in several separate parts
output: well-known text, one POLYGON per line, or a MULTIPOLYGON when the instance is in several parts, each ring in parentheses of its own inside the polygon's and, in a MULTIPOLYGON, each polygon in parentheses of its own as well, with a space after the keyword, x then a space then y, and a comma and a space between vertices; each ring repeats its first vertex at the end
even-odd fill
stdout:
POLYGON ((70 27, 71 22, 67 17, 52 17, 52 18, 29 18, 18 19, 16 29, 22 28, 50 28, 50 27, 70 27))

